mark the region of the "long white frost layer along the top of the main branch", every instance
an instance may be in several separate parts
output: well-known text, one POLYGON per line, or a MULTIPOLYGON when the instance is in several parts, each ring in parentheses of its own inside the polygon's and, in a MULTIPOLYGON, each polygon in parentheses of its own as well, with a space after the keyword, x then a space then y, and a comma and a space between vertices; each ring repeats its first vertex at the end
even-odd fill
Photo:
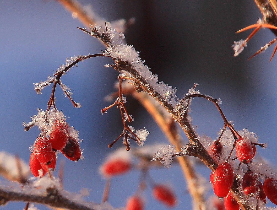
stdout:
MULTIPOLYGON (((160 94, 165 102, 170 103, 175 107, 179 103, 179 99, 176 96, 176 88, 161 82, 158 82, 158 76, 153 75, 147 65, 144 64, 139 57, 139 52, 135 50, 133 46, 126 45, 123 42, 125 38, 124 34, 118 33, 114 28, 111 28, 107 24, 107 31, 102 32, 101 26, 96 25, 93 28, 97 30, 100 34, 106 33, 110 38, 110 46, 103 52, 104 55, 113 58, 119 58, 122 61, 127 61, 129 64, 137 70, 140 76, 145 79, 154 89, 160 94)), ((93 32, 92 32, 93 35, 93 32)))

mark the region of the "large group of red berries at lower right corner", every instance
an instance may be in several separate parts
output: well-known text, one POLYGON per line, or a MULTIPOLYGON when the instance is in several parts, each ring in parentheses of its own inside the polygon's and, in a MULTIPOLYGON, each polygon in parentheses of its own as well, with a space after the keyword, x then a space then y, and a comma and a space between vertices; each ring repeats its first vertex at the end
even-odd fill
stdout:
MULTIPOLYGON (((258 174, 251 170, 249 162, 255 156, 255 144, 246 137, 240 137, 235 140, 234 147, 240 164, 246 163, 248 166, 242 181, 238 180, 238 184, 242 186, 243 192, 249 197, 255 196, 264 204, 266 203, 267 197, 272 203, 277 205, 277 180, 266 177, 262 184, 258 174)), ((219 140, 213 142, 210 146, 209 153, 212 157, 220 157, 222 155, 222 144, 219 140)), ((238 210, 240 206, 230 192, 235 178, 234 169, 230 165, 230 156, 231 154, 225 162, 219 164, 216 170, 211 172, 210 181, 213 186, 214 194, 219 197, 225 197, 225 209, 238 210)))

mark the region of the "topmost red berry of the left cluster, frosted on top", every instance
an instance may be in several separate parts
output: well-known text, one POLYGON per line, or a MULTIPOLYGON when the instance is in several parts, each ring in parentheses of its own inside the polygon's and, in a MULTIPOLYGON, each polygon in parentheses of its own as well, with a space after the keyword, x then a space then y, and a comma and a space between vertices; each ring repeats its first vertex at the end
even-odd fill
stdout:
POLYGON ((55 150, 61 150, 65 147, 68 139, 68 124, 61 119, 55 120, 52 131, 49 136, 49 142, 55 150))

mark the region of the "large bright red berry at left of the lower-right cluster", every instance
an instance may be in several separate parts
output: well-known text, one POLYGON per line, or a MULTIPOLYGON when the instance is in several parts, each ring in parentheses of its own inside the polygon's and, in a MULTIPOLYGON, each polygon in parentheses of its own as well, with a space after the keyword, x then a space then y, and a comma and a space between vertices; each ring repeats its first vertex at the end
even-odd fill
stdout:
POLYGON ((228 162, 221 163, 216 170, 214 170, 212 188, 214 194, 219 197, 227 196, 234 181, 234 171, 228 162))

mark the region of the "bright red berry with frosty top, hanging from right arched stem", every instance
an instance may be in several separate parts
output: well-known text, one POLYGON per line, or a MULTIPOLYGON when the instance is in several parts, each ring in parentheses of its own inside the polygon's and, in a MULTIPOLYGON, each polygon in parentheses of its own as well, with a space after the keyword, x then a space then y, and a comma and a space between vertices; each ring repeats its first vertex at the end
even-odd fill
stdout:
POLYGON ((245 137, 240 137, 236 140, 235 148, 238 160, 242 163, 249 163, 256 153, 256 146, 251 144, 251 141, 245 137))

